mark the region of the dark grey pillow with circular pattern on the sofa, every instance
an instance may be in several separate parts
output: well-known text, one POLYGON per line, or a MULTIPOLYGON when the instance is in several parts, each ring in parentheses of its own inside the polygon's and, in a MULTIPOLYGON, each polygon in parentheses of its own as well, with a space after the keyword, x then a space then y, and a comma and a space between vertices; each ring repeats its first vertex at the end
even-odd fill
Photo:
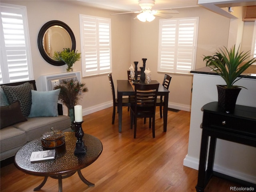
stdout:
POLYGON ((32 104, 31 86, 28 82, 17 86, 2 85, 2 89, 8 99, 9 104, 20 102, 22 114, 27 117, 30 114, 32 104))

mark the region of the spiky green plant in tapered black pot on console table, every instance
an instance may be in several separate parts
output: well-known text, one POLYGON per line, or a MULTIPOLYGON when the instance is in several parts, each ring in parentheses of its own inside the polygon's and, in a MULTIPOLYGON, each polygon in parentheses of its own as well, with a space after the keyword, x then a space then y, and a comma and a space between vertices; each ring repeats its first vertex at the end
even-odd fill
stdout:
MULTIPOLYGON (((241 74, 253 63, 256 62, 256 58, 248 60, 250 58, 250 51, 239 52, 239 48, 236 51, 236 46, 233 46, 228 50, 226 47, 220 48, 213 56, 204 56, 206 66, 209 66, 217 74, 219 74, 226 85, 216 85, 218 90, 218 105, 226 112, 232 112, 236 105, 236 99, 242 86, 234 85, 235 82, 245 76, 241 74)), ((245 87, 242 87, 245 88, 245 87)))

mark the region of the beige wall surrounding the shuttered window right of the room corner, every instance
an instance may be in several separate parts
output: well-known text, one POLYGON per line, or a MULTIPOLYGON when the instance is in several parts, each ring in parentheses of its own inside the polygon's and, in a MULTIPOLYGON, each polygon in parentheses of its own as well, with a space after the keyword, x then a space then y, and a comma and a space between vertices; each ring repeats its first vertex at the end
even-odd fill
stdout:
MULTIPOLYGON (((202 7, 179 9, 179 12, 172 18, 199 17, 196 68, 202 68, 205 66, 203 55, 212 54, 217 47, 227 45, 230 19, 202 7)), ((146 68, 152 70, 152 78, 162 82, 164 74, 157 72, 159 19, 156 17, 150 23, 132 21, 131 61, 139 61, 138 66, 142 66, 142 58, 147 58, 146 68)), ((169 107, 190 110, 193 76, 170 75, 169 107)))

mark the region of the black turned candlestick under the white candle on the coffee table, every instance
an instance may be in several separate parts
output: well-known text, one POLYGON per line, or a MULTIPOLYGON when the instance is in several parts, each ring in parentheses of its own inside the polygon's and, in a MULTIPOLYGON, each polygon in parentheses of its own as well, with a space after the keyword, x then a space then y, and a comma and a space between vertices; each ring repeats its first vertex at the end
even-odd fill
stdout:
POLYGON ((75 136, 76 136, 76 148, 74 154, 85 154, 86 150, 84 148, 84 141, 83 141, 83 136, 84 136, 84 131, 82 129, 82 122, 74 122, 74 127, 76 130, 75 136))

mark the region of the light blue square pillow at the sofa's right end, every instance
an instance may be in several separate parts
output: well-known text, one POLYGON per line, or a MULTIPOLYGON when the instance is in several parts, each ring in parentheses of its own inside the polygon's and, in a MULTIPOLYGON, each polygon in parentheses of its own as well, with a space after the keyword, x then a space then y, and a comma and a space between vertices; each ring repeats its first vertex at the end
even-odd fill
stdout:
POLYGON ((28 117, 58 116, 58 98, 60 89, 53 91, 35 91, 32 93, 32 106, 28 117))

